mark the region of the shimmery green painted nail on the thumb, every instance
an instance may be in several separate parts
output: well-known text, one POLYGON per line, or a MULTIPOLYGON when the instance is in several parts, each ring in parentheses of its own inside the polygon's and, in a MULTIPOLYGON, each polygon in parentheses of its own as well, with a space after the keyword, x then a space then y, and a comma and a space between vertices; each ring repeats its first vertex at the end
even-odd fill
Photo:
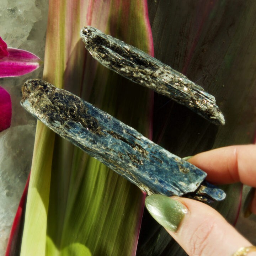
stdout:
POLYGON ((146 197, 145 206, 160 225, 171 231, 178 230, 182 219, 188 213, 188 209, 181 202, 160 194, 146 197))

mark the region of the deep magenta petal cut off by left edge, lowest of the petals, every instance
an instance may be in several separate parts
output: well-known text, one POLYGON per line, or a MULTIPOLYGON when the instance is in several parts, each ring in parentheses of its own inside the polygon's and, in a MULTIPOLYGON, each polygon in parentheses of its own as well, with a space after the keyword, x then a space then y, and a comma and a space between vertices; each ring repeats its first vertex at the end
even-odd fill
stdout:
POLYGON ((11 97, 0 87, 0 132, 11 125, 11 97))

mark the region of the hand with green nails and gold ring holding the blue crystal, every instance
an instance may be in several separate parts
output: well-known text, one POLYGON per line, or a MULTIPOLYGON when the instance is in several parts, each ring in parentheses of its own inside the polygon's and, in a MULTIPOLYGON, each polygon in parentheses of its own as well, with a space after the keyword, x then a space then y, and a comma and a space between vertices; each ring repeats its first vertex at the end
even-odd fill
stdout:
MULTIPOLYGON (((209 182, 228 184, 240 181, 256 187, 256 145, 214 149, 197 154, 188 161, 207 172, 209 182)), ((240 247, 252 244, 207 204, 154 194, 146 198, 145 206, 190 256, 256 256, 255 246, 248 254, 237 252, 240 247)), ((256 193, 250 210, 256 214, 256 193)))

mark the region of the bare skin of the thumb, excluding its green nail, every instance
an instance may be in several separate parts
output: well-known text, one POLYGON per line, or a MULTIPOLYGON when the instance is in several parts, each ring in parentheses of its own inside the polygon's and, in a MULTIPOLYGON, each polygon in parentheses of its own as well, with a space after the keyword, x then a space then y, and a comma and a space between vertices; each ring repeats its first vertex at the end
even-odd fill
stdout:
POLYGON ((169 234, 183 247, 188 255, 232 255, 239 247, 250 246, 215 209, 188 198, 177 198, 188 213, 178 229, 169 234))

